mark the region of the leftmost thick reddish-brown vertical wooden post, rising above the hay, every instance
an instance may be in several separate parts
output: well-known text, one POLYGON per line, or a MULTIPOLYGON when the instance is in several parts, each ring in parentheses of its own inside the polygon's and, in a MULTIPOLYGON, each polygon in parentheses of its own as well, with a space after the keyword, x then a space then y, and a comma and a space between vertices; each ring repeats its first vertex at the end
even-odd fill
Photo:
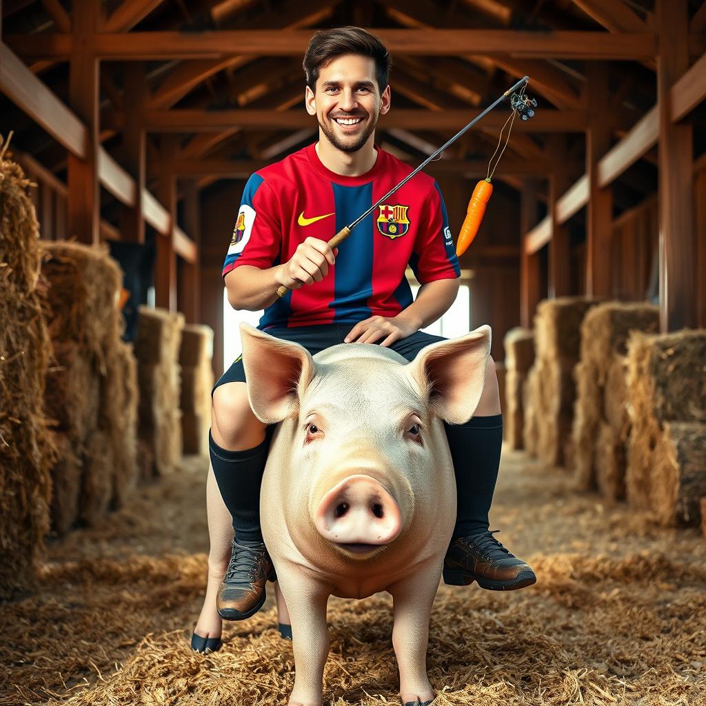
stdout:
POLYGON ((100 3, 75 0, 71 16, 68 97, 71 108, 88 128, 88 145, 84 160, 68 153, 68 235, 83 243, 97 244, 100 223, 97 165, 100 90, 99 61, 93 42, 100 21, 100 3))

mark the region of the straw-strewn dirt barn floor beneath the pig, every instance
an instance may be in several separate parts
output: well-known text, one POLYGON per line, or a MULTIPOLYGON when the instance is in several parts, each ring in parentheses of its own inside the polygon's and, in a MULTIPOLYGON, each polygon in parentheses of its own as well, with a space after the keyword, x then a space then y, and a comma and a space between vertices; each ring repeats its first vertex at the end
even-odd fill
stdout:
MULTIPOLYGON (((49 544, 38 592, 0 605, 0 705, 286 703, 292 646, 274 608, 227 624, 220 652, 187 645, 205 587, 206 463, 186 460, 100 527, 49 544)), ((435 706, 706 705, 696 530, 655 527, 511 452, 492 527, 538 582, 507 594, 440 588, 435 706)), ((400 703, 391 622, 386 594, 331 599, 325 703, 400 703)))

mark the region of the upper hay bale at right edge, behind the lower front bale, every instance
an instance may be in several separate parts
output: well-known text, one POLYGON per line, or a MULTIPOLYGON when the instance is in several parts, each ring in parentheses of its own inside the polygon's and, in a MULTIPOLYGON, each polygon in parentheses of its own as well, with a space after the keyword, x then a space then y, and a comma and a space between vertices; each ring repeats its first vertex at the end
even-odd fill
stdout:
POLYGON ((628 341, 630 438, 626 495, 653 510, 654 449, 669 421, 706 422, 706 331, 633 333, 628 341))

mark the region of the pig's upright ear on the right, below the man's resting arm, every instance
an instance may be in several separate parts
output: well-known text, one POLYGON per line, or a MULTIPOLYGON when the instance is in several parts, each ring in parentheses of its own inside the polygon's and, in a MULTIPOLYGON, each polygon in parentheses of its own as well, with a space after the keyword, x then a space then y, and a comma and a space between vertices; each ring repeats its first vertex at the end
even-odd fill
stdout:
POLYGON ((421 349, 407 370, 428 396, 431 412, 449 424, 463 424, 475 412, 485 384, 490 326, 421 349))

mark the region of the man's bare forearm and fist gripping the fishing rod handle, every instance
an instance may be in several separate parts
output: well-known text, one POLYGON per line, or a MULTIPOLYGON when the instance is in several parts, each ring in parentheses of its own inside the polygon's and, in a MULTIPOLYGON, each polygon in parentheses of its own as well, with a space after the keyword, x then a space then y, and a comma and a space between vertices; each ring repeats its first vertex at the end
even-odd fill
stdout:
POLYGON ((292 259, 282 265, 261 270, 241 265, 225 276, 228 301, 233 309, 259 311, 277 301, 277 289, 299 289, 321 282, 328 265, 335 263, 338 250, 332 251, 323 240, 307 238, 297 246, 292 259))

